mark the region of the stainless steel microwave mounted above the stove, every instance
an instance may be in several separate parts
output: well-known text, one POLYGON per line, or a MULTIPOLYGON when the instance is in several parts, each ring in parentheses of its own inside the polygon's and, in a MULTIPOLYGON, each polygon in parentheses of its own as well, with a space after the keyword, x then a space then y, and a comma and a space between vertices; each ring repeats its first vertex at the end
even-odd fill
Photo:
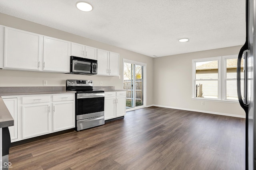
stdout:
POLYGON ((97 74, 97 60, 70 56, 70 74, 97 74))

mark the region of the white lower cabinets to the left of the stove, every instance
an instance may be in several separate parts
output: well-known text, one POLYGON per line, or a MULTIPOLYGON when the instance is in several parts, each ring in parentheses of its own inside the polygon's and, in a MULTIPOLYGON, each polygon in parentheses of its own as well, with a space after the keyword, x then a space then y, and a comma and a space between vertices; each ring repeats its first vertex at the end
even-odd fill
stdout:
POLYGON ((14 118, 11 142, 75 127, 75 94, 2 96, 14 118))

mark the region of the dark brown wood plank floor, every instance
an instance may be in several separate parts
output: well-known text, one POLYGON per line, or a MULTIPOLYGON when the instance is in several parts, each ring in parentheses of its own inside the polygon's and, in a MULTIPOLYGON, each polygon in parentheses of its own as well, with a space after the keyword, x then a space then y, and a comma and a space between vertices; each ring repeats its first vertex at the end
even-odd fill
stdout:
POLYGON ((10 148, 12 170, 243 170, 245 119, 148 107, 10 148))

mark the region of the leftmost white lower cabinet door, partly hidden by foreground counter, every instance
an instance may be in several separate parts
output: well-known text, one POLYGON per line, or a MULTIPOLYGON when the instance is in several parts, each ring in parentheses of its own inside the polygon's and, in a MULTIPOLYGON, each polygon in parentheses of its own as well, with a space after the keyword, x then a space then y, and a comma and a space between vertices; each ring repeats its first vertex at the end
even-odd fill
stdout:
POLYGON ((4 104, 8 108, 9 112, 14 119, 14 126, 9 127, 11 140, 18 138, 18 129, 17 129, 17 98, 7 98, 3 99, 4 104))

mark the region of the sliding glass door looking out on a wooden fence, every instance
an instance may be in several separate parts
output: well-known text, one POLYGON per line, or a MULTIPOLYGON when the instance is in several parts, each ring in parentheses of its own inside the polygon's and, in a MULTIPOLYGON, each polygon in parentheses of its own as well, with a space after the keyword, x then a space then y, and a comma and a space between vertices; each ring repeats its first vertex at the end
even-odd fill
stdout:
POLYGON ((126 109, 144 106, 144 65, 123 62, 123 89, 126 90, 126 109))

